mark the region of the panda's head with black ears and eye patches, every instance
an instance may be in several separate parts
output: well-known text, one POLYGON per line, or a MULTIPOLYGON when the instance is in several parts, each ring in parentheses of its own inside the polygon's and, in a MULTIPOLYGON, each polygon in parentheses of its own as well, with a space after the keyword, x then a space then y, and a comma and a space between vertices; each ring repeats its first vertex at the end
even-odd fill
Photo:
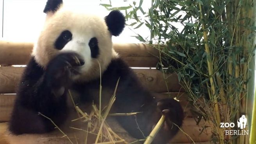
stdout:
POLYGON ((66 9, 62 0, 48 0, 43 12, 47 14, 45 25, 32 52, 43 68, 59 53, 76 52, 85 62, 79 79, 90 80, 100 75, 99 63, 104 71, 111 59, 117 57, 111 37, 124 29, 125 18, 120 11, 99 18, 66 9))

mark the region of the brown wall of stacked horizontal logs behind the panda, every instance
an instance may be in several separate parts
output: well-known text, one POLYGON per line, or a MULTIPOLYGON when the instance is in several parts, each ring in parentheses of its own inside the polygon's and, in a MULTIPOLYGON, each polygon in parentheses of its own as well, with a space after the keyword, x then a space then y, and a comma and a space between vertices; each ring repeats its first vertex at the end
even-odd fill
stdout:
MULTIPOLYGON (((0 122, 9 121, 11 110, 16 97, 16 85, 20 81, 23 67, 13 67, 12 65, 25 65, 30 59, 32 43, 14 43, 10 41, 0 41, 0 122)), ((147 44, 114 44, 114 49, 124 59, 130 67, 154 68, 159 61, 156 56, 158 50, 151 48, 147 44)), ((133 69, 140 82, 157 98, 176 97, 185 112, 185 120, 182 126, 183 132, 179 132, 172 142, 205 142, 211 137, 210 128, 201 133, 200 130, 205 125, 204 121, 196 124, 188 103, 188 96, 184 93, 179 84, 177 75, 166 74, 156 69, 133 69), (209 133, 205 133, 209 132, 209 133), (192 139, 190 139, 189 135, 192 139)), ((210 125, 210 124, 209 124, 210 125)))

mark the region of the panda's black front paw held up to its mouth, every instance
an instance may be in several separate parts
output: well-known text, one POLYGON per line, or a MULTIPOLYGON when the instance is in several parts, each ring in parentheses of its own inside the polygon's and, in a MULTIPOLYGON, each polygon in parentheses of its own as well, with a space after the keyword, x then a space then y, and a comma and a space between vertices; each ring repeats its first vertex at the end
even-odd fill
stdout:
POLYGON ((47 85, 54 88, 68 87, 72 77, 79 75, 79 67, 84 65, 82 57, 74 52, 60 53, 50 60, 46 68, 47 85))

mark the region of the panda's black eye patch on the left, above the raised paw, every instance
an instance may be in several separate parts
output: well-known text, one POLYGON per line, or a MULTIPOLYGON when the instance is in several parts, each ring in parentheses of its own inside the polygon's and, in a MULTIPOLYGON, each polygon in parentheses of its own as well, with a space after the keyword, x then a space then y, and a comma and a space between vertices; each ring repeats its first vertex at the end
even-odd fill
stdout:
POLYGON ((56 49, 61 50, 71 40, 72 40, 72 33, 69 30, 64 30, 56 39, 54 46, 56 49))

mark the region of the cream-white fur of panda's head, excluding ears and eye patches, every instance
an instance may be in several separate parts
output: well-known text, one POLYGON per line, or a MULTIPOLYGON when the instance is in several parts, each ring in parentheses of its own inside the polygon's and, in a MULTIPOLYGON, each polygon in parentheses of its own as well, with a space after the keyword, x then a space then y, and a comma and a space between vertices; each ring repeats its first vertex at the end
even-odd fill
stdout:
POLYGON ((58 53, 77 52, 85 62, 81 68, 82 74, 79 80, 88 81, 99 77, 98 62, 103 72, 111 59, 117 57, 117 53, 113 50, 111 37, 104 18, 61 7, 54 14, 50 12, 47 15, 45 26, 34 45, 32 56, 35 57, 39 65, 45 68, 49 60, 58 53), (57 50, 54 48, 54 43, 64 30, 69 30, 72 33, 72 40, 62 50, 57 50), (91 58, 91 50, 88 45, 93 37, 98 40, 99 55, 97 59, 91 58))

